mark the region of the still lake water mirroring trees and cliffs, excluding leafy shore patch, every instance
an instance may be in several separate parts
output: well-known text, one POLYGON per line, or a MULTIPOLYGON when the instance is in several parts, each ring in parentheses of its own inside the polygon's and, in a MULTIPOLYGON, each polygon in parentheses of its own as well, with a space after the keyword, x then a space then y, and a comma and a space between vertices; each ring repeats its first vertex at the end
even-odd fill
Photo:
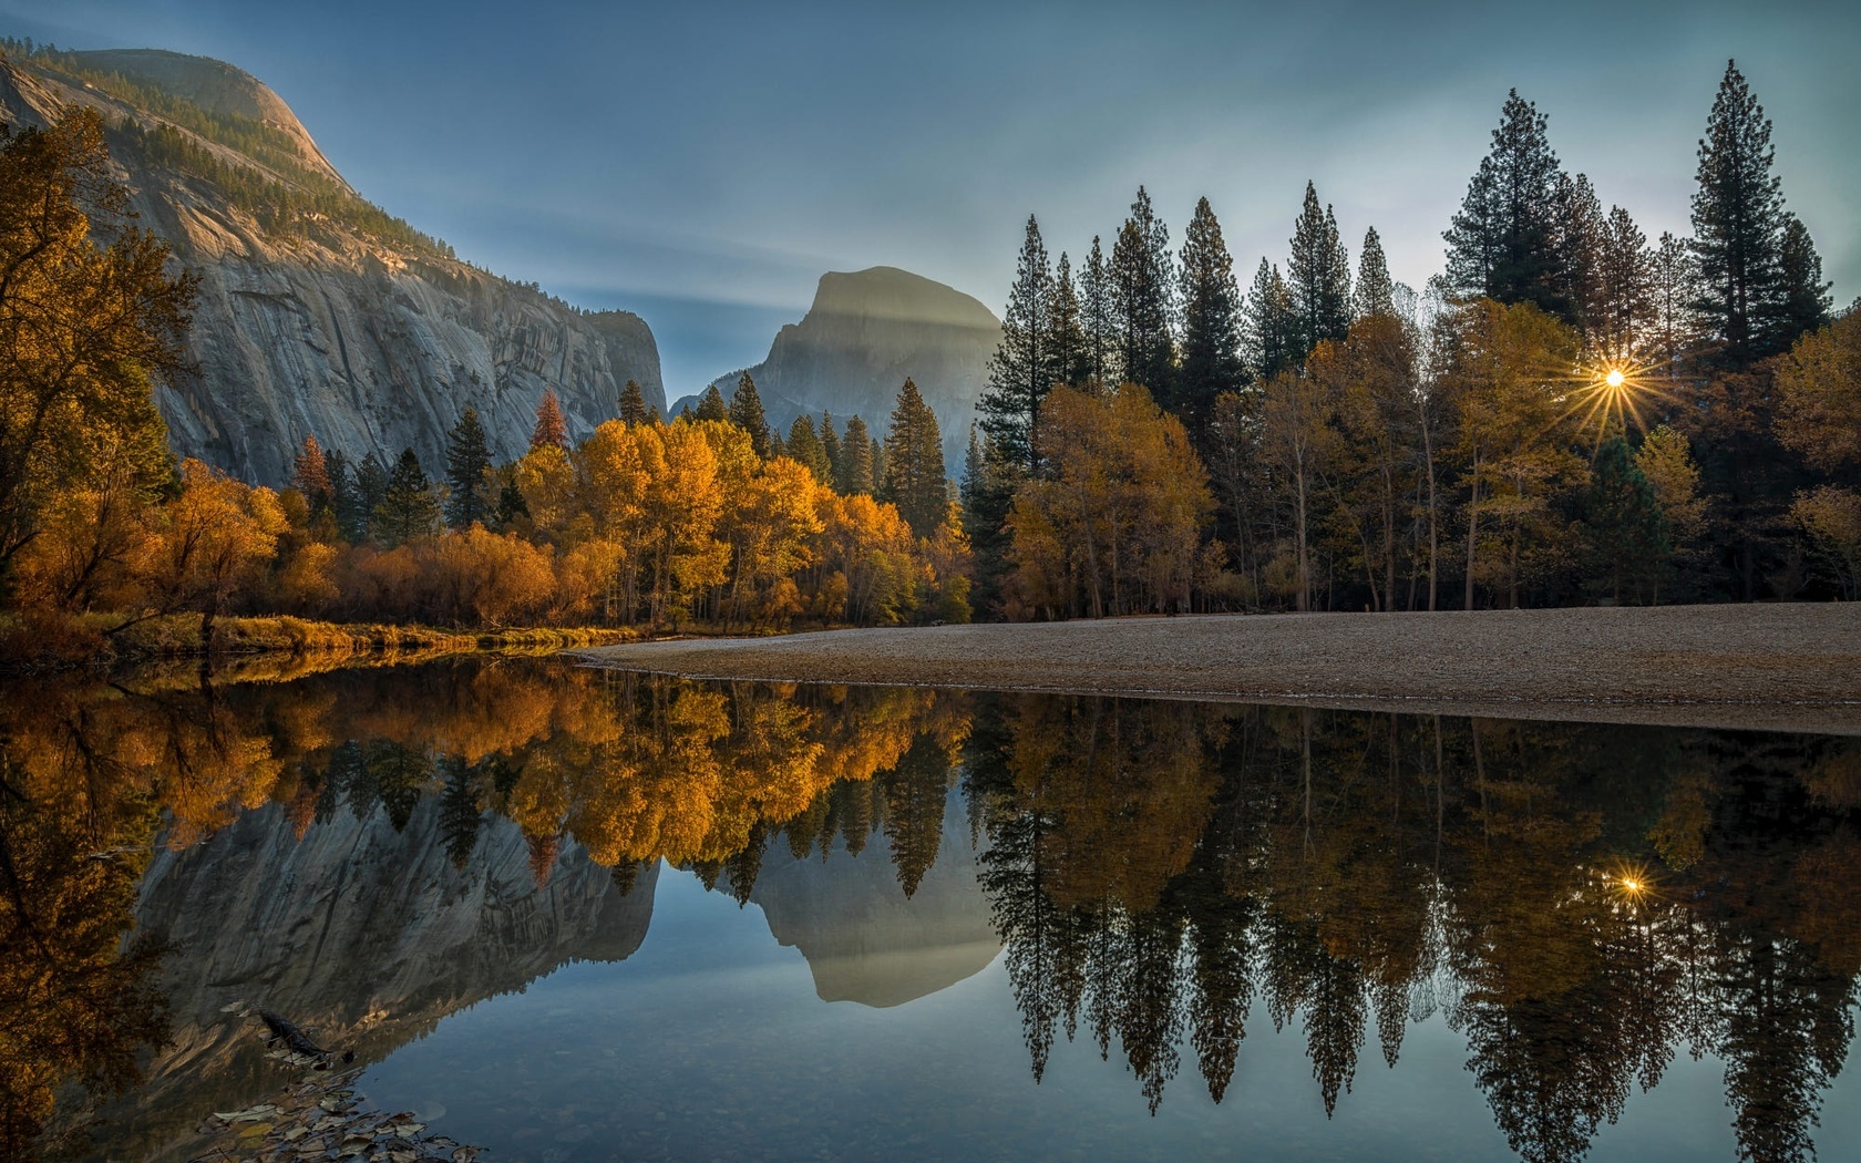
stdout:
POLYGON ((201 1156, 266 1007, 501 1161, 1861 1159, 1855 739, 473 659, 0 776, 0 1157, 201 1156))

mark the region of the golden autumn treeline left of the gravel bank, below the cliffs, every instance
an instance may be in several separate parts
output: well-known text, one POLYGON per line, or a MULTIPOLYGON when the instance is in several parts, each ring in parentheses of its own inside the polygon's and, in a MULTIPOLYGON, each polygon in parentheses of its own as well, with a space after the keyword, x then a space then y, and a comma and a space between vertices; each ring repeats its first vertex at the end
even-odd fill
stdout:
POLYGON ((620 419, 569 445, 545 393, 495 465, 467 408, 443 478, 303 439, 290 488, 173 463, 151 380, 182 374, 194 277, 127 218, 99 117, 0 143, 0 610, 9 653, 192 612, 456 627, 728 629, 960 622, 968 543, 936 417, 906 380, 880 437, 769 432, 730 406, 620 419), (73 629, 76 627, 76 629, 73 629))

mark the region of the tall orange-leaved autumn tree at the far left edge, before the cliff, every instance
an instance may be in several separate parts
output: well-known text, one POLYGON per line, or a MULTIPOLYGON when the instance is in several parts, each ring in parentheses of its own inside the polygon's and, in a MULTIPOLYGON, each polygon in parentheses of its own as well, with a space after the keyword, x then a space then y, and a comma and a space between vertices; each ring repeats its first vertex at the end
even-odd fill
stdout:
POLYGON ((195 279, 128 221, 102 119, 73 110, 0 140, 0 597, 41 515, 106 447, 145 448, 134 489, 169 473, 151 387, 181 370, 195 279))

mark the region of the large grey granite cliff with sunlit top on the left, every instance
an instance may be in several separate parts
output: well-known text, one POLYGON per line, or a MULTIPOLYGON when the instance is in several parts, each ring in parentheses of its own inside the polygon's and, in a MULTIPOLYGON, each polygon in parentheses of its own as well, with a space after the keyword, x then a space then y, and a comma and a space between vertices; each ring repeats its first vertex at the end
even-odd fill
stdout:
POLYGON ((545 389, 562 398, 577 439, 618 415, 629 378, 664 406, 644 320, 577 311, 441 244, 376 229, 385 216, 354 199, 257 78, 158 50, 0 60, 0 119, 45 125, 71 106, 102 114, 141 225, 201 277, 188 341, 195 372, 156 393, 179 454, 283 484, 296 445, 316 435, 355 458, 411 447, 439 475, 445 434, 467 406, 501 460, 527 448, 545 389), (140 145, 151 136, 166 136, 166 153, 140 145), (365 212, 313 208, 281 227, 229 194, 227 173, 320 194, 324 205, 348 195, 365 212))

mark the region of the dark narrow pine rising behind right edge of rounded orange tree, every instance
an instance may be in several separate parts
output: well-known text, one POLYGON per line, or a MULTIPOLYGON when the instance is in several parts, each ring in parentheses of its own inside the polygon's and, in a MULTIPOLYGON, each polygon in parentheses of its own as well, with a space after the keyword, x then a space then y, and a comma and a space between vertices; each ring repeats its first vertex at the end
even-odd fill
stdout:
POLYGON ((1202 441, 1215 396, 1247 383, 1241 361, 1241 288, 1208 199, 1195 203, 1182 240, 1182 370, 1165 400, 1202 441))

